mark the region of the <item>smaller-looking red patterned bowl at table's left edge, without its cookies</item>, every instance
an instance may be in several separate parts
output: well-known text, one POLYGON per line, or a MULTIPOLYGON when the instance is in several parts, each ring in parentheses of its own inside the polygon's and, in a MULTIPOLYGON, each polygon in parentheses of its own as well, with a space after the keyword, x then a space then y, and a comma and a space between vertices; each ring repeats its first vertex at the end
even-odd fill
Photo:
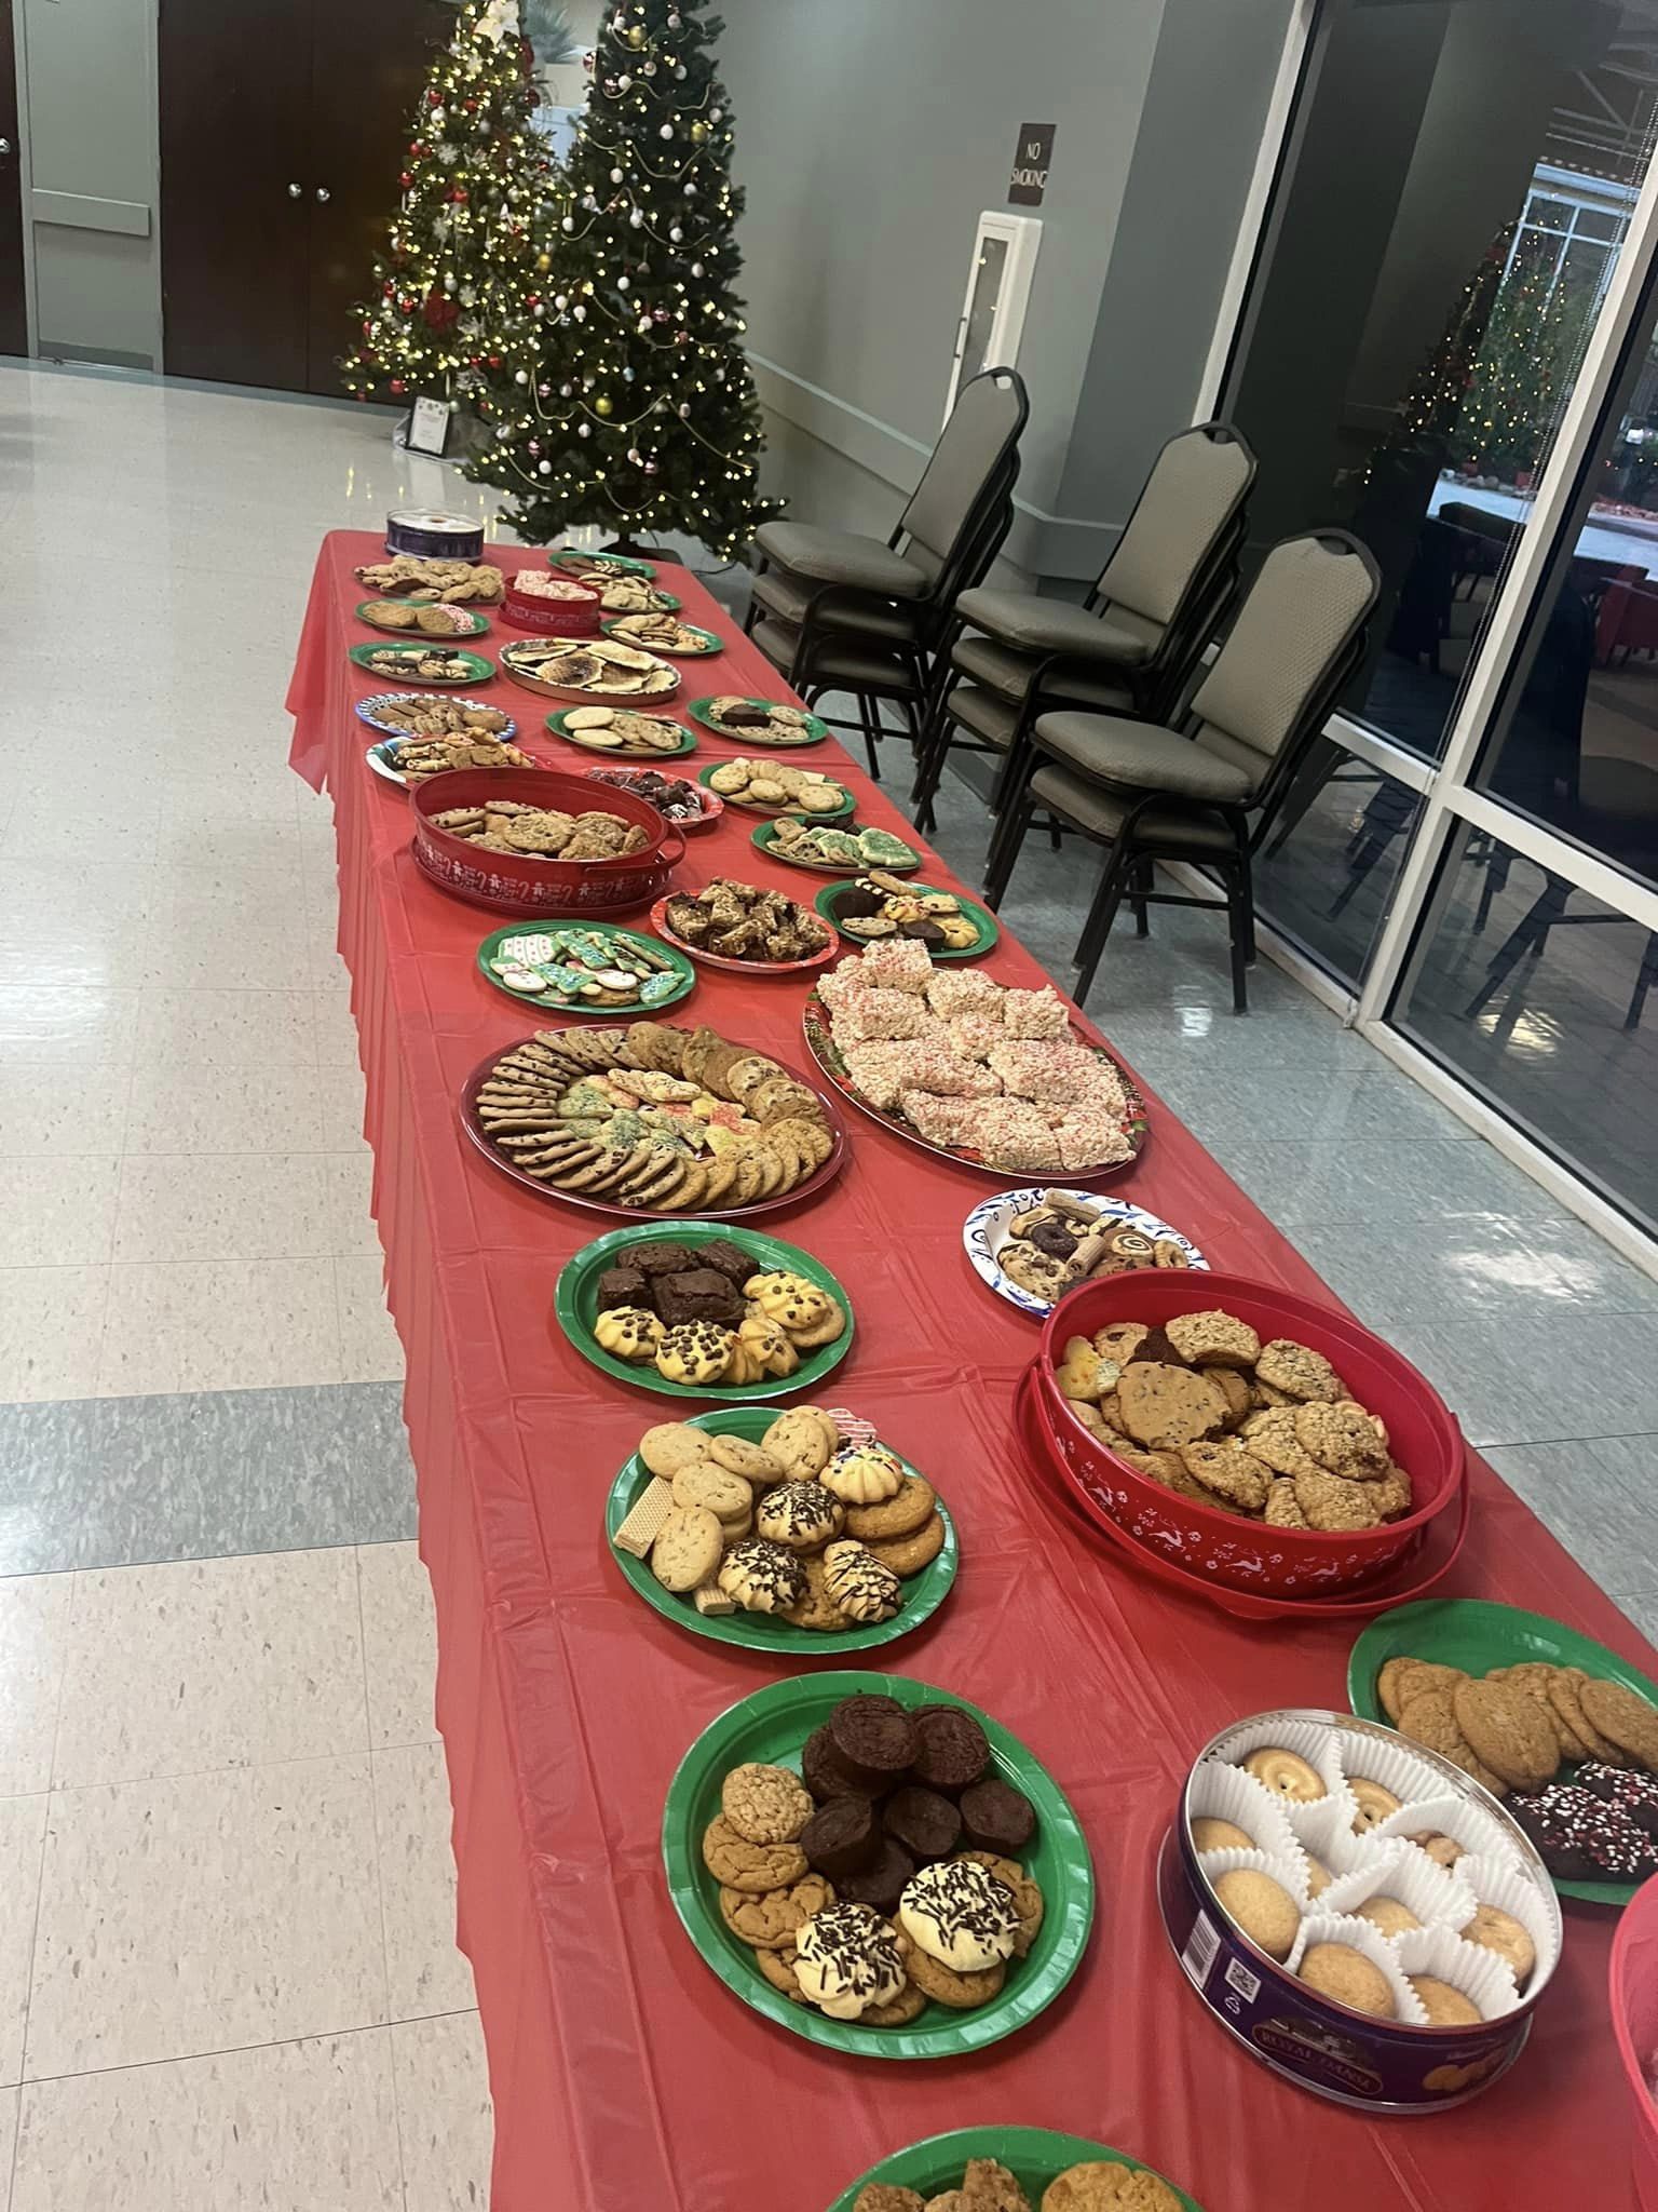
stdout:
POLYGON ((668 878, 685 858, 685 838, 637 792, 557 768, 451 768, 409 792, 413 812, 411 849, 416 865, 444 891, 478 907, 517 918, 621 914, 643 907, 668 889, 668 878), (480 852, 469 838, 442 830, 433 816, 449 807, 482 805, 486 799, 520 799, 564 814, 619 814, 639 823, 650 843, 615 860, 539 860, 531 854, 480 852))

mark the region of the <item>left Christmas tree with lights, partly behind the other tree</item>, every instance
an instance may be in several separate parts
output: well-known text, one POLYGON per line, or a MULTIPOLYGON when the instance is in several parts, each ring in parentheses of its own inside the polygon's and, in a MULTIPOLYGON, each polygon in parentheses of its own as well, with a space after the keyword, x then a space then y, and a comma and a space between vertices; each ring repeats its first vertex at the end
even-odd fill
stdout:
POLYGON ((356 398, 469 400, 500 367, 553 175, 537 100, 517 0, 462 0, 416 108, 363 343, 340 363, 356 398))

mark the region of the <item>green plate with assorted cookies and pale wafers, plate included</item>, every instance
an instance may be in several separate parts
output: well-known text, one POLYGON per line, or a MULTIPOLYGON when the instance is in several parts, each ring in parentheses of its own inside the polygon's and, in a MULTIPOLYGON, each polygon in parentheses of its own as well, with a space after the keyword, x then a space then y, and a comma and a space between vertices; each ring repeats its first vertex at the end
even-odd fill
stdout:
POLYGON ((676 1628, 818 1659, 920 1628, 957 1568, 955 1522, 933 1484, 869 1422, 809 1405, 723 1407, 646 1429, 610 1486, 606 1535, 634 1590, 676 1628), (886 1460, 902 1475, 893 1498, 860 1506, 829 1489, 862 1489, 886 1460), (873 1533, 893 1522, 900 1533, 873 1533))

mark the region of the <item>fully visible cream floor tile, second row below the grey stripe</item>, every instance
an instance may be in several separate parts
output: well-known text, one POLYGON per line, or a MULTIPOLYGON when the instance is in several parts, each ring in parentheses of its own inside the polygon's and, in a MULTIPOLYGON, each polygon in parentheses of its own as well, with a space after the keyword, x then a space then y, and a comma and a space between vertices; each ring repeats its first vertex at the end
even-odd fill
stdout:
POLYGON ((365 1756, 51 1798, 31 2081, 382 2017, 365 1756))

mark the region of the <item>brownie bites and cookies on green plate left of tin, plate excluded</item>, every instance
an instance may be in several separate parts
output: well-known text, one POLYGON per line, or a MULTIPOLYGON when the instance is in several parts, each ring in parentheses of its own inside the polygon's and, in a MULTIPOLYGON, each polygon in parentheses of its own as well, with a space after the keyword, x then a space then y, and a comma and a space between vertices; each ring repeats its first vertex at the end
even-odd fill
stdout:
POLYGON ((988 2004, 1028 1955, 1043 1898, 1012 1851, 1035 1825, 973 1714, 849 1697, 800 1774, 725 1776, 703 1865, 774 1989, 831 2020, 909 2026, 928 2002, 988 2004))

